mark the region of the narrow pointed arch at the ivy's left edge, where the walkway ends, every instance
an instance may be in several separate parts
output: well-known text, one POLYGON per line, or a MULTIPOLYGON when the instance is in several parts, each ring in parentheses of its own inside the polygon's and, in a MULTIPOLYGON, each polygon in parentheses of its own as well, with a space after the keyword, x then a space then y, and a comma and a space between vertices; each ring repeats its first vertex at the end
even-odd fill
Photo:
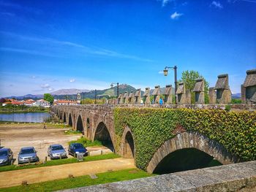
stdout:
POLYGON ((135 158, 135 139, 132 130, 127 126, 121 138, 121 155, 124 158, 135 158))

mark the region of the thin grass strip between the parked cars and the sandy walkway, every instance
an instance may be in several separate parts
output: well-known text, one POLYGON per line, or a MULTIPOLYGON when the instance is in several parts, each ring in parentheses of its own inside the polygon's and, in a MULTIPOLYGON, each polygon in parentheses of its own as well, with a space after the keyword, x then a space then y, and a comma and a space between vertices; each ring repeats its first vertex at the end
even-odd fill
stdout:
MULTIPOLYGON (((105 154, 105 155, 94 155, 94 156, 87 156, 84 158, 85 161, 98 161, 98 160, 104 160, 104 159, 111 159, 111 158, 119 158, 120 155, 117 155, 115 153, 105 154)), ((62 165, 62 164, 74 164, 78 162, 85 162, 85 161, 78 161, 77 158, 64 158, 64 159, 56 159, 47 161, 45 164, 31 164, 26 166, 16 166, 16 165, 10 165, 10 166, 0 166, 0 172, 8 172, 13 170, 19 170, 19 169, 31 169, 31 168, 37 168, 42 166, 55 166, 55 165, 62 165)))

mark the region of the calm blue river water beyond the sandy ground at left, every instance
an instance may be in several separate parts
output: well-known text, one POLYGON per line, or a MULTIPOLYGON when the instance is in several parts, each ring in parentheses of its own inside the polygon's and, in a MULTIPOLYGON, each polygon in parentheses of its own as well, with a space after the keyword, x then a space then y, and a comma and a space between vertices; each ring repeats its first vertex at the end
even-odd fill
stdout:
POLYGON ((43 123, 50 120, 48 112, 0 113, 0 121, 43 123))

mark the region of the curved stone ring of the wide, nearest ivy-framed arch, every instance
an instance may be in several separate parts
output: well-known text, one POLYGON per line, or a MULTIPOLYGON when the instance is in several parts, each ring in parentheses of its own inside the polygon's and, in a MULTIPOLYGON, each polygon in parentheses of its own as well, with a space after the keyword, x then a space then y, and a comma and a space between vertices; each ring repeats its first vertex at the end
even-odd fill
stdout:
POLYGON ((151 158, 151 161, 147 166, 147 172, 154 172, 157 165, 170 153, 187 148, 195 148, 203 151, 214 157, 221 164, 233 164, 238 162, 238 158, 231 155, 225 150, 225 147, 218 142, 208 139, 208 137, 205 137, 202 134, 191 131, 177 134, 176 137, 165 141, 151 158))

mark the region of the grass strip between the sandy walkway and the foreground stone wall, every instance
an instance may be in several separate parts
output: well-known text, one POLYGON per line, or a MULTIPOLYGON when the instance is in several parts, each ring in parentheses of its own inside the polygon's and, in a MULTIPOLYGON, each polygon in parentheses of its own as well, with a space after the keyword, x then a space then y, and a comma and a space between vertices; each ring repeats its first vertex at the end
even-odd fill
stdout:
POLYGON ((62 180, 52 180, 43 183, 34 183, 27 186, 15 186, 11 188, 0 188, 0 191, 56 191, 67 188, 78 188, 89 185, 97 185, 102 183, 113 183, 121 180, 133 180, 142 177, 150 177, 154 174, 149 174, 140 169, 124 169, 116 172, 105 172, 96 174, 97 179, 91 179, 89 175, 80 177, 67 178, 62 180))

